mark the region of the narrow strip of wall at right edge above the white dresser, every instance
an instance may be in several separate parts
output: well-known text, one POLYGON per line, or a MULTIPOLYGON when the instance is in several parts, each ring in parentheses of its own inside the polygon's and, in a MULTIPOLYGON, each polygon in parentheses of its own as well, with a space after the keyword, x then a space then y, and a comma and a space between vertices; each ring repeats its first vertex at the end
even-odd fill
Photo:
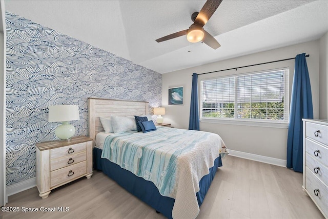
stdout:
POLYGON ((319 117, 328 120, 328 32, 320 39, 320 104, 319 117))

